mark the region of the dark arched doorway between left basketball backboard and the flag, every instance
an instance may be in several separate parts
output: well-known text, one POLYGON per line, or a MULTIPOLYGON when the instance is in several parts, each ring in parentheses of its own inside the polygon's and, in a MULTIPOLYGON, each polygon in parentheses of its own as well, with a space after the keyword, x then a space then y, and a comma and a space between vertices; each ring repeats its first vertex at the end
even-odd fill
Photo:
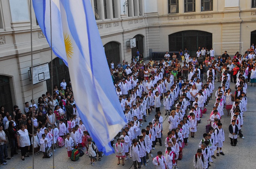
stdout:
MULTIPOLYGON (((60 90, 60 84, 62 82, 62 78, 65 78, 67 86, 69 86, 70 76, 69 76, 69 68, 65 65, 62 59, 56 57, 52 60, 52 68, 51 62, 49 62, 49 70, 50 76, 52 75, 53 70, 53 85, 57 85, 60 90)), ((47 91, 52 95, 52 77, 46 80, 47 91)), ((54 88, 54 86, 53 86, 54 88)))

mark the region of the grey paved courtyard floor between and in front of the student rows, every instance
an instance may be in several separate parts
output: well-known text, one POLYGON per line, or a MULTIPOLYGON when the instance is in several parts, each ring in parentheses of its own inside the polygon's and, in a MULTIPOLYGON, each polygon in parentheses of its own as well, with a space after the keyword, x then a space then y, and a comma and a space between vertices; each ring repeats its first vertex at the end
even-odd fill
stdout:
MULTIPOLYGON (((215 91, 218 88, 220 83, 215 83, 215 91)), ((234 93, 234 84, 231 84, 232 92, 234 93)), ((254 146, 256 139, 256 131, 252 130, 256 128, 254 113, 256 112, 256 88, 250 87, 248 85, 247 89, 247 112, 244 117, 244 125, 242 127, 242 131, 245 139, 238 138, 238 145, 236 147, 230 145, 229 140, 229 132, 228 126, 230 124, 230 117, 227 116, 226 109, 224 110, 224 116, 222 116, 221 122, 223 124, 223 129, 225 132, 225 142, 223 146, 223 152, 225 155, 220 155, 216 159, 213 159, 213 163, 210 163, 210 169, 245 169, 245 168, 256 168, 256 146, 254 146), (255 107, 254 107, 255 106, 255 107)), ((214 91, 214 93, 215 93, 214 91)), ((215 97, 213 97, 214 100, 215 97)), ((212 111, 212 107, 214 101, 210 101, 210 106, 207 107, 207 113, 203 115, 201 119, 201 124, 199 124, 198 131, 196 132, 195 139, 189 139, 188 146, 185 146, 183 149, 183 159, 178 161, 179 169, 192 169, 193 166, 193 156, 198 149, 198 143, 203 137, 203 133, 205 133, 205 126, 207 124, 207 119, 209 119, 209 114, 212 111)), ((164 111, 163 107, 161 107, 161 112, 164 111)), ((150 116, 147 116, 147 120, 152 121, 154 117, 154 111, 150 116)), ((164 142, 166 135, 168 133, 168 118, 163 115, 163 137, 162 140, 164 142)), ((148 122, 143 122, 143 127, 145 128, 148 125, 148 122)), ((163 144, 164 145, 164 144, 163 144)), ((9 149, 8 149, 9 150, 9 149)), ((155 150, 152 150, 154 157, 157 155, 157 151, 165 151, 165 146, 160 147, 159 144, 156 145, 155 150)), ((10 152, 9 152, 10 153, 10 152)), ((216 151, 215 151, 216 153, 216 151)), ((216 156, 216 155, 215 155, 216 156)), ((34 157, 34 168, 35 169, 50 169, 53 168, 53 157, 50 159, 42 158, 43 154, 35 155, 34 157)), ((8 160, 8 164, 6 166, 1 166, 2 169, 26 169, 32 168, 32 155, 30 157, 25 158, 24 161, 21 160, 20 155, 16 155, 15 158, 8 160)), ((117 158, 115 154, 105 156, 101 161, 96 161, 95 166, 88 165, 90 159, 88 155, 84 155, 80 157, 78 161, 71 161, 67 158, 67 151, 64 147, 56 148, 54 152, 54 166, 56 169, 91 169, 91 168, 106 168, 106 169, 133 169, 133 161, 129 158, 125 161, 125 165, 117 166, 117 158)), ((148 166, 144 166, 143 168, 155 168, 152 164, 152 158, 150 157, 148 166)))

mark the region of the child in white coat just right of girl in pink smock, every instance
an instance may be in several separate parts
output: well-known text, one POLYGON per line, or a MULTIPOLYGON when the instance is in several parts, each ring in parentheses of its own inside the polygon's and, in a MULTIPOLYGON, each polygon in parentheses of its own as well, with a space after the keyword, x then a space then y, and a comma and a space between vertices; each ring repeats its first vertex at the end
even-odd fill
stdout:
POLYGON ((130 157, 133 159, 133 167, 137 168, 137 164, 138 164, 138 168, 140 168, 141 167, 140 158, 142 157, 142 149, 138 144, 137 139, 133 139, 133 144, 130 147, 130 157))

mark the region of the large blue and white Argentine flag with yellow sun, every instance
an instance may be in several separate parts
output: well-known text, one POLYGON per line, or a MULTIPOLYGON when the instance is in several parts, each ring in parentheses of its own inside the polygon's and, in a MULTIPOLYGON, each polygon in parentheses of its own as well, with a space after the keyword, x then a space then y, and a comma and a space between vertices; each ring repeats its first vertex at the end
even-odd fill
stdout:
POLYGON ((99 151, 114 153, 110 141, 127 121, 114 91, 90 0, 33 0, 33 7, 49 44, 51 7, 52 50, 69 67, 79 116, 99 151))

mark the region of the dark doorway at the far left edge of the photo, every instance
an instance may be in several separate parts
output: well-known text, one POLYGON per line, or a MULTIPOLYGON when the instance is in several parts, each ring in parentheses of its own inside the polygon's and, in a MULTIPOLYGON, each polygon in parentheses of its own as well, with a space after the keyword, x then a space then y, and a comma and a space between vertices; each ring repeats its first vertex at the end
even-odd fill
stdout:
MULTIPOLYGON (((5 107, 5 111, 12 112, 12 95, 8 76, 0 75, 0 106, 5 107)), ((11 113, 10 113, 11 114, 11 113)))

